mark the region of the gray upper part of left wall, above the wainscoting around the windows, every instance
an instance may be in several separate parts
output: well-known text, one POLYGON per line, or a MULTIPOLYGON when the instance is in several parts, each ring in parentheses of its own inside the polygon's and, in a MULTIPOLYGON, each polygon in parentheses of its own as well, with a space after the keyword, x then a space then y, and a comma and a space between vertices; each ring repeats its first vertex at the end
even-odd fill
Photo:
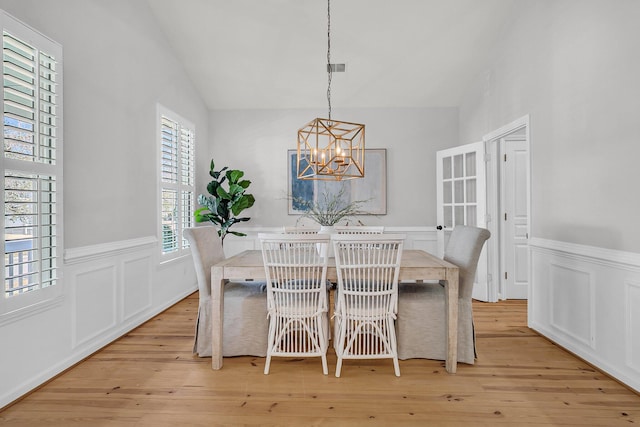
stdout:
MULTIPOLYGON (((145 2, 0 0, 63 46, 65 245, 156 234, 156 103, 196 126, 207 109, 145 2)), ((206 153, 205 153, 206 156, 206 153)))

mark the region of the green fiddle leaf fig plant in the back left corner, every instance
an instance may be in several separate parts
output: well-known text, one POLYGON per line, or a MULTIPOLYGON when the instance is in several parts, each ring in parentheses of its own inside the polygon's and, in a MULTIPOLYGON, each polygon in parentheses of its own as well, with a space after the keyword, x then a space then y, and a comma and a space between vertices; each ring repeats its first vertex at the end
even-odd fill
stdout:
POLYGON ((229 169, 227 166, 219 171, 215 170, 215 164, 211 160, 209 175, 213 178, 207 185, 209 195, 200 194, 194 216, 196 222, 211 221, 218 227, 218 235, 224 243, 227 234, 246 236, 245 233, 230 231, 229 228, 238 222, 249 221, 251 218, 239 217, 240 213, 253 206, 255 198, 253 194, 246 192, 251 181, 242 179, 244 172, 237 169, 229 169))

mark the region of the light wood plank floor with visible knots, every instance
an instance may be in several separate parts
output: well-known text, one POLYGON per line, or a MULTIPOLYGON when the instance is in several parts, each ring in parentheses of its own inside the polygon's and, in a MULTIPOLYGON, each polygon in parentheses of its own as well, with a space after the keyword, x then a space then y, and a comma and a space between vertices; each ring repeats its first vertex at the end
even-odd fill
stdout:
POLYGON ((197 294, 0 412, 2 426, 617 426, 640 396, 526 327, 526 302, 474 303, 479 359, 211 359, 191 354, 197 294))

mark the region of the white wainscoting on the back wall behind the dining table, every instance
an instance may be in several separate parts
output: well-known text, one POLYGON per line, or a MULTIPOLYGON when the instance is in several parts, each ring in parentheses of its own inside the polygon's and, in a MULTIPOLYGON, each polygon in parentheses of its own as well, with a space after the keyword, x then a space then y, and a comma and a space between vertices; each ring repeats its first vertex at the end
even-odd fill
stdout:
MULTIPOLYGON (((246 237, 228 235, 224 240, 224 252, 227 257, 246 250, 260 249, 258 233, 282 233, 282 227, 234 227, 234 231, 246 233, 246 237)), ((385 233, 403 233, 407 235, 405 249, 422 249, 432 254, 438 252, 438 236, 435 227, 387 227, 385 233)))

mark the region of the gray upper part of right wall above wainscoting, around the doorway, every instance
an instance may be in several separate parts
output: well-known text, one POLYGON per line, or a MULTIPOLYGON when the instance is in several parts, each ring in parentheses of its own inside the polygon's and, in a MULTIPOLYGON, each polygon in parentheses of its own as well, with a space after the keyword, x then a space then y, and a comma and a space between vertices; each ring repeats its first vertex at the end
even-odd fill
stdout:
POLYGON ((640 252, 640 2, 537 0, 460 106, 461 143, 531 118, 532 234, 640 252))

